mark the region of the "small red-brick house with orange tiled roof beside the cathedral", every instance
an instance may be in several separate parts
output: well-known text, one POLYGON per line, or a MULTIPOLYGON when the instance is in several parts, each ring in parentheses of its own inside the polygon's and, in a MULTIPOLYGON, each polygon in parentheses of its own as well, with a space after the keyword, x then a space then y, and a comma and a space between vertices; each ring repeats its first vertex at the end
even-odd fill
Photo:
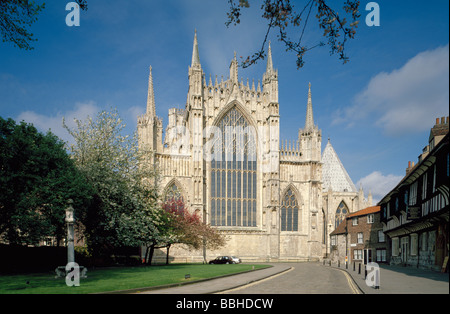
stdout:
POLYGON ((380 222, 380 207, 351 213, 330 234, 333 261, 386 262, 386 241, 380 222))

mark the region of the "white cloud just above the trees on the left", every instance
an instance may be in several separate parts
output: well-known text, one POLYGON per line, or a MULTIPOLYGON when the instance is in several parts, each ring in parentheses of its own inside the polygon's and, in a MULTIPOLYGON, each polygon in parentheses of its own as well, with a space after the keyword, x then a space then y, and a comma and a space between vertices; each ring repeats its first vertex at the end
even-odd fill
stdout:
POLYGON ((22 112, 16 120, 32 123, 42 132, 47 132, 50 130, 63 141, 71 142, 73 138, 63 127, 63 118, 65 118, 67 126, 75 127, 75 123, 73 121, 75 118, 83 120, 88 116, 93 117, 98 111, 99 107, 97 107, 93 101, 90 101, 87 103, 77 103, 74 110, 65 113, 58 113, 56 116, 45 116, 34 111, 25 111, 22 112))

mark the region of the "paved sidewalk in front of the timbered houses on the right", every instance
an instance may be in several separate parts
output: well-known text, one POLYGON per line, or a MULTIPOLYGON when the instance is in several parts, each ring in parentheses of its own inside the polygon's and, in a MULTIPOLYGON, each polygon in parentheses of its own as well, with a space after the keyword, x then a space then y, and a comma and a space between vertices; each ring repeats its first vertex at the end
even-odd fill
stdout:
MULTIPOLYGON (((366 284, 364 265, 345 264, 338 267, 332 264, 331 267, 346 271, 365 294, 449 294, 449 274, 432 270, 417 269, 412 267, 389 266, 380 264, 379 289, 375 289, 366 284)), ((368 273, 368 279, 375 278, 375 272, 368 273)))

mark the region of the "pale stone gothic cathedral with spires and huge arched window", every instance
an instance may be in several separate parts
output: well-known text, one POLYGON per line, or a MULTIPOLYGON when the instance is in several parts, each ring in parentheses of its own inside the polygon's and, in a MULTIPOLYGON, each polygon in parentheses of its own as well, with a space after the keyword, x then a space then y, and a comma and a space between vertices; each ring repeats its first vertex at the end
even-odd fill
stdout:
MULTIPOLYGON (((164 198, 187 208, 227 236, 217 251, 171 249, 177 261, 235 255, 243 261, 311 261, 330 252, 329 233, 346 214, 370 206, 356 190, 330 141, 314 124, 311 84, 306 122, 296 143, 281 142, 278 71, 269 44, 262 83, 230 75, 206 82, 197 34, 185 109, 170 109, 163 138, 150 67, 147 112, 138 118, 140 149, 161 176, 164 198)), ((155 256, 157 258, 157 256, 155 256)))

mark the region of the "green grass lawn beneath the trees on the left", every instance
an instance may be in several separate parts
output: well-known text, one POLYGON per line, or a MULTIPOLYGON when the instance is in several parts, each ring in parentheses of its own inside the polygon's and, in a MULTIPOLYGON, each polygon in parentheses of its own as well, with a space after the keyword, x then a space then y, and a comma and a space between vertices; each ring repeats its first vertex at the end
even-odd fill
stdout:
POLYGON ((268 267, 266 265, 234 264, 172 264, 151 267, 118 267, 88 269, 87 278, 79 287, 68 287, 65 278, 54 273, 0 275, 0 294, 84 294, 154 287, 186 281, 207 279, 268 267), (190 279, 185 275, 190 274, 190 279), (28 283, 27 283, 28 282, 28 283))

